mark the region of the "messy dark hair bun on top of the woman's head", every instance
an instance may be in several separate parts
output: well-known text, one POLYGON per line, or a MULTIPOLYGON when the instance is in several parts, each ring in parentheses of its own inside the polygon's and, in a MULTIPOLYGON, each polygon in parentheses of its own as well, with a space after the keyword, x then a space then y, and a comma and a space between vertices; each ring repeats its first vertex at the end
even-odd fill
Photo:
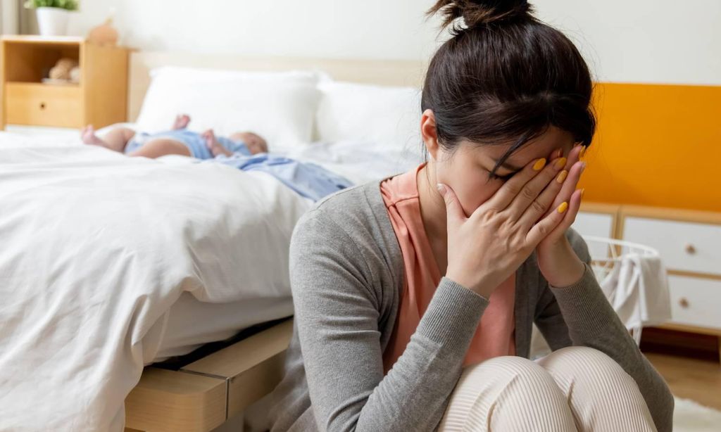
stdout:
MULTIPOLYGON (((439 0, 428 15, 441 12, 443 24, 441 28, 463 18, 466 28, 502 22, 510 19, 530 17, 531 5, 527 0, 439 0)), ((463 29, 454 27, 454 32, 463 29)))

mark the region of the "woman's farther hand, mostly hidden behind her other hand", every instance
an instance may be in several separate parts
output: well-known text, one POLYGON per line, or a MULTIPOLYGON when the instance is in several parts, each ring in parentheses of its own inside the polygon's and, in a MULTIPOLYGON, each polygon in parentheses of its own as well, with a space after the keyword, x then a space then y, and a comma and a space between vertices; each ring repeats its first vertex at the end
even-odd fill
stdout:
POLYGON ((581 198, 583 198, 583 189, 576 190, 585 168, 585 163, 580 162, 583 149, 582 146, 577 145, 568 154, 565 166, 568 174, 553 203, 554 206, 559 206, 563 202, 567 202, 568 210, 565 212, 563 220, 546 238, 541 240, 536 248, 541 274, 553 287, 568 287, 575 284, 583 277, 585 271, 583 262, 575 254, 565 235, 578 215, 581 198))

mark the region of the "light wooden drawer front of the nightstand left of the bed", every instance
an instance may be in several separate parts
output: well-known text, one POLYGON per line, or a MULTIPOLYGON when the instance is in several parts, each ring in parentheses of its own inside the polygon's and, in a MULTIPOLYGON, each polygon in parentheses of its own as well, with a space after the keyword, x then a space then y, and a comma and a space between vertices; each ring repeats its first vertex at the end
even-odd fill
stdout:
POLYGON ((82 127, 82 97, 77 86, 6 84, 6 122, 11 125, 82 127))

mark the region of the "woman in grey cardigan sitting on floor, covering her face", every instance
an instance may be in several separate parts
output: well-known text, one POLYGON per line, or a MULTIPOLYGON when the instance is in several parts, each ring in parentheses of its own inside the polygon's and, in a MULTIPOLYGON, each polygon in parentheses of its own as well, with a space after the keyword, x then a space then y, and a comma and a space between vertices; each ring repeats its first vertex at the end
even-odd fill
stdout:
POLYGON ((425 78, 428 163, 293 234, 273 431, 671 431, 668 387, 570 230, 595 127, 583 58, 526 1, 435 12, 464 26, 425 78))

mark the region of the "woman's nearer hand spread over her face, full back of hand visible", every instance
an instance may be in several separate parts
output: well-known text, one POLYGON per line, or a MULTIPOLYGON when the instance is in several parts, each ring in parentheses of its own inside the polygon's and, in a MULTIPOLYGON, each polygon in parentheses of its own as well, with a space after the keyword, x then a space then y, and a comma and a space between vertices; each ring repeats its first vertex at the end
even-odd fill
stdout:
POLYGON ((448 279, 489 298, 565 220, 567 203, 547 211, 561 192, 567 161, 545 162, 528 163, 470 217, 455 192, 438 184, 448 220, 448 279))

